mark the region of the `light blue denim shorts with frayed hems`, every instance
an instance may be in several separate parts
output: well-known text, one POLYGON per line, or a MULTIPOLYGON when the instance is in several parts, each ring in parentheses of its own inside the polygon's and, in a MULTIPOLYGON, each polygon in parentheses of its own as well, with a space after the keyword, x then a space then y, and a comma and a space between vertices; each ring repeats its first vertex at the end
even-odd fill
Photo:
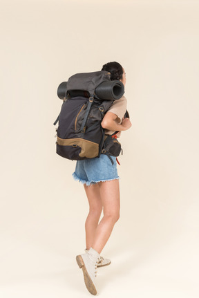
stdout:
POLYGON ((111 156, 111 158, 113 165, 105 154, 101 154, 99 158, 77 160, 73 178, 86 185, 119 179, 116 157, 111 156))

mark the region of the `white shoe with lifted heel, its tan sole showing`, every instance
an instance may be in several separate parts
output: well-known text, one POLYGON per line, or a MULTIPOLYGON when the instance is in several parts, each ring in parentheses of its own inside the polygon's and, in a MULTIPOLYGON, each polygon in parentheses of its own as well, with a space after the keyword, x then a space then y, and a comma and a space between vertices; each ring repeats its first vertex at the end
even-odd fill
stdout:
POLYGON ((97 262, 99 260, 100 256, 93 248, 90 248, 86 254, 79 254, 76 257, 79 268, 83 270, 86 288, 93 295, 97 295, 94 281, 97 274, 97 262))

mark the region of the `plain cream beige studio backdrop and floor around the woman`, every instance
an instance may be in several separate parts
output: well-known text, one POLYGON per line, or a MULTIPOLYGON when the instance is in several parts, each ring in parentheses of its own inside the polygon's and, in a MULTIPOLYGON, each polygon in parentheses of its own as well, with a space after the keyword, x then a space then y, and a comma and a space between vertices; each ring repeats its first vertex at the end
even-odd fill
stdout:
POLYGON ((2 298, 88 297, 88 203, 55 153, 57 86, 118 61, 121 218, 98 270, 101 297, 195 298, 198 290, 199 1, 1 0, 2 298))

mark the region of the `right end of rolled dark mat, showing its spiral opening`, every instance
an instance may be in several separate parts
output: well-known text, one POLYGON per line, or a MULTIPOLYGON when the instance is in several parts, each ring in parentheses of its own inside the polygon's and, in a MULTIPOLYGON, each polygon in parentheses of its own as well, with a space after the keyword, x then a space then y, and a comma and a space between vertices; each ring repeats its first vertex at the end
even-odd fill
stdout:
POLYGON ((124 94, 124 85, 119 80, 102 82, 95 94, 100 100, 119 100, 124 94))

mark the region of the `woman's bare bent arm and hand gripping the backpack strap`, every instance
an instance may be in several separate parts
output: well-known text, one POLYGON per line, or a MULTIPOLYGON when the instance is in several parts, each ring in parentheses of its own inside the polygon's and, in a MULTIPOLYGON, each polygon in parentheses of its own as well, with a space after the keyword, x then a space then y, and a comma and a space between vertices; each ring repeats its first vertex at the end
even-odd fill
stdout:
POLYGON ((131 121, 129 118, 124 118, 120 124, 120 118, 117 117, 112 112, 107 112, 101 123, 103 129, 108 129, 109 131, 126 131, 131 127, 131 121))

